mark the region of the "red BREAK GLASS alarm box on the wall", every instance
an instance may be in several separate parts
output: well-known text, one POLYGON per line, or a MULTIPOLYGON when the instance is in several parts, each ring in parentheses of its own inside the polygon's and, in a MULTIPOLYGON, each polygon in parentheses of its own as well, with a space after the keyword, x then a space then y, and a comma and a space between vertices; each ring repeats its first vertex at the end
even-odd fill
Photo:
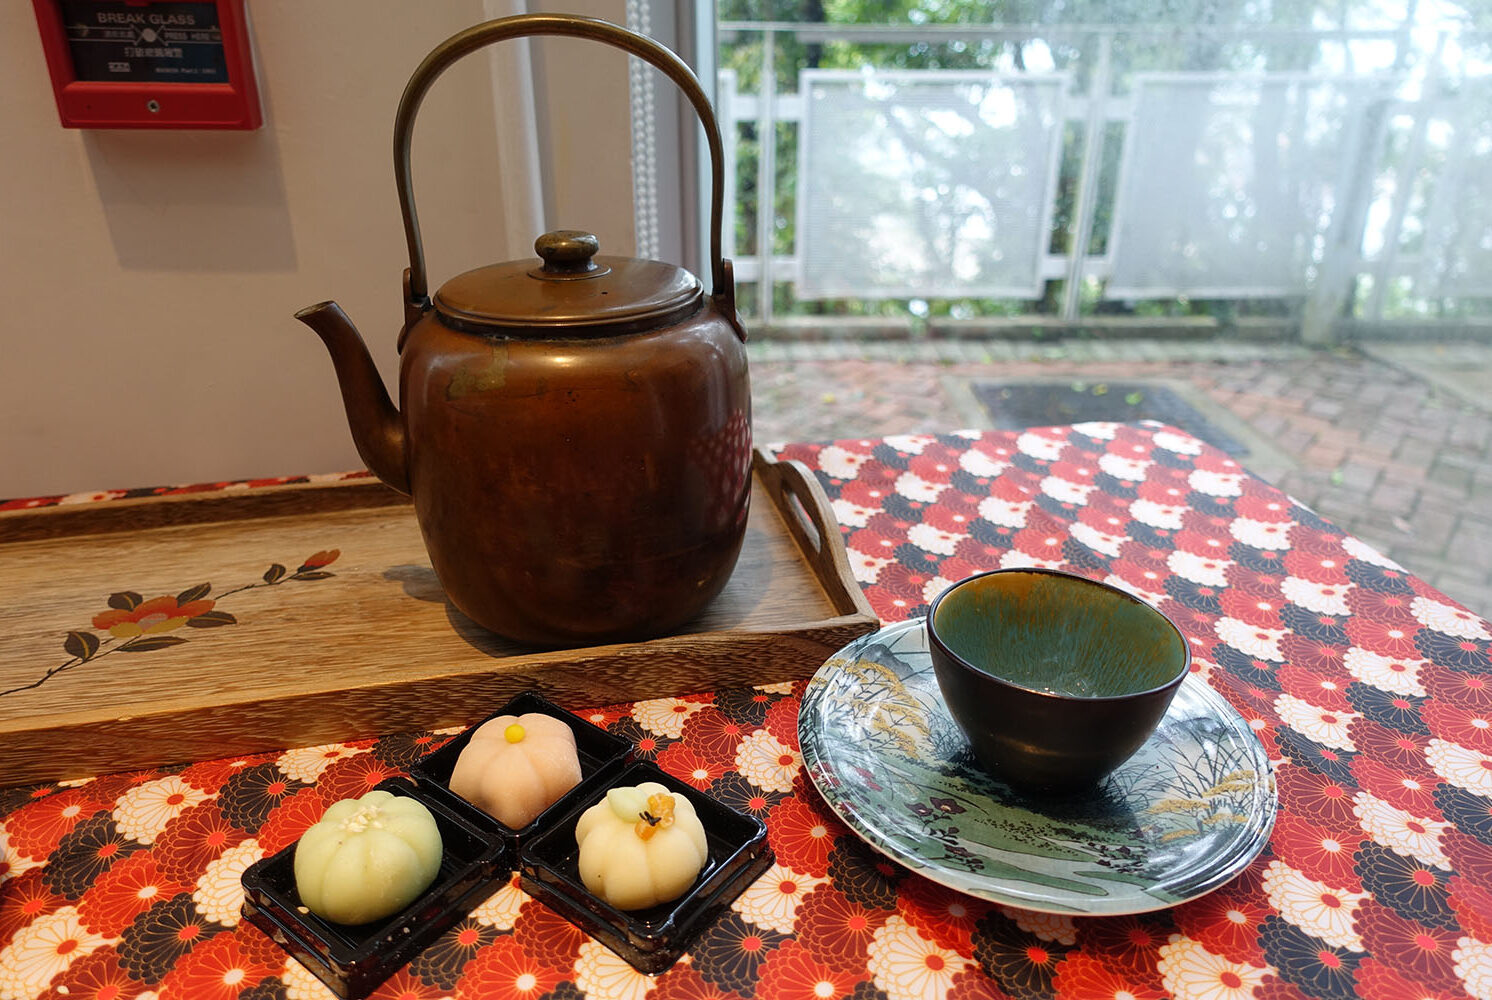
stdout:
POLYGON ((243 0, 31 0, 67 128, 258 128, 243 0))

